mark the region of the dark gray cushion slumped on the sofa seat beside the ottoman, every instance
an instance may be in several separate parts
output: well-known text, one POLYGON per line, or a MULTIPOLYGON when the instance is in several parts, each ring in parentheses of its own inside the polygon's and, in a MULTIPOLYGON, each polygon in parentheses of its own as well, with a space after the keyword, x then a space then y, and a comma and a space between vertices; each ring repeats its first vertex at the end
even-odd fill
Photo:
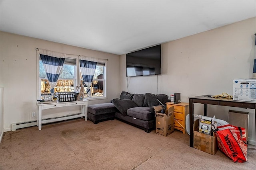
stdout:
POLYGON ((132 107, 138 107, 132 100, 130 99, 113 99, 112 103, 122 113, 122 115, 127 115, 127 109, 132 107))

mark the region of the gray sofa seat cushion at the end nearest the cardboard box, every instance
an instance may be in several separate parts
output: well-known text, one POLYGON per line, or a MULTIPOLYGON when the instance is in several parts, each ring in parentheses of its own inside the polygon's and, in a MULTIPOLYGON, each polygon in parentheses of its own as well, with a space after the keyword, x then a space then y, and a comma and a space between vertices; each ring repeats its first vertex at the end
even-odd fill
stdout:
POLYGON ((150 107, 133 107, 127 110, 127 115, 149 121, 153 118, 153 114, 150 112, 150 107))

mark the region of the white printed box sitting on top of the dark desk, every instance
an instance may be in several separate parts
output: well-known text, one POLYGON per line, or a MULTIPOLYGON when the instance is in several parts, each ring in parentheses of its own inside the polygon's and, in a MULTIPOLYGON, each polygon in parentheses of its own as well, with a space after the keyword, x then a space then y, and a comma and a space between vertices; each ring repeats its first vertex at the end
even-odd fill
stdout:
POLYGON ((233 100, 256 102, 256 79, 234 79, 233 100))

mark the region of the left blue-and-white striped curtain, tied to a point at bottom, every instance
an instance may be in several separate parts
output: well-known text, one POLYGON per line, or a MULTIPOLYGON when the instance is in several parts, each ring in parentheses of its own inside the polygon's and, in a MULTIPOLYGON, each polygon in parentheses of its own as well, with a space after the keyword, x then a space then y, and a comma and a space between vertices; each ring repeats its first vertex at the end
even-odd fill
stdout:
POLYGON ((46 71, 46 76, 50 84, 50 92, 54 93, 54 87, 57 84, 60 72, 62 70, 66 54, 57 53, 54 51, 48 51, 39 49, 40 57, 46 71))

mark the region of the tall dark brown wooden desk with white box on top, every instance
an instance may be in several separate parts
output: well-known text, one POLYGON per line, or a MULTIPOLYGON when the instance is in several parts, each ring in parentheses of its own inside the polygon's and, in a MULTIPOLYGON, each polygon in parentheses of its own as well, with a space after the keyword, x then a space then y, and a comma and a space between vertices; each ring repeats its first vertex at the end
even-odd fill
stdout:
MULTIPOLYGON (((245 109, 254 109, 256 110, 256 102, 243 102, 243 101, 234 101, 233 99, 219 99, 203 96, 196 96, 189 98, 189 119, 190 119, 190 147, 193 147, 193 124, 194 124, 194 103, 204 104, 204 115, 207 116, 207 105, 218 105, 218 106, 230 106, 230 107, 241 107, 245 109)), ((254 112, 256 113, 256 112, 254 112)), ((256 116, 255 116, 256 122, 256 116)), ((256 123, 255 123, 256 128, 256 123)))

